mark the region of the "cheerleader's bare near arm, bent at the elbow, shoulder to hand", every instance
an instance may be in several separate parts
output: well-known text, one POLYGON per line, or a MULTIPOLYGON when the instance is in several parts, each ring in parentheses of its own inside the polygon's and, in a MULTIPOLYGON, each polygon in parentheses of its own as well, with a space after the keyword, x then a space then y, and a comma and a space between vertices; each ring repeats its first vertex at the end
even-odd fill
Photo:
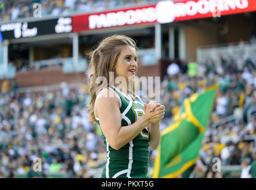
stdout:
POLYGON ((115 150, 134 139, 150 122, 157 122, 162 117, 162 109, 153 112, 145 110, 145 114, 131 125, 121 127, 119 99, 109 89, 101 90, 95 100, 101 130, 109 145, 115 150), (109 95, 108 95, 109 93, 109 95), (111 96, 110 96, 111 95, 111 96))

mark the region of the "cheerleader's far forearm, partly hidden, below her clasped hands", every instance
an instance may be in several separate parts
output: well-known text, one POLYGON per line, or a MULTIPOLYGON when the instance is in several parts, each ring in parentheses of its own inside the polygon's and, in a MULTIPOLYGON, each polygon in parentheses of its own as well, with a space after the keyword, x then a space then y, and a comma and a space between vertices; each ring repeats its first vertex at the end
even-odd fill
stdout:
POLYGON ((152 149, 158 148, 161 140, 160 121, 147 125, 147 129, 149 130, 149 147, 152 149))

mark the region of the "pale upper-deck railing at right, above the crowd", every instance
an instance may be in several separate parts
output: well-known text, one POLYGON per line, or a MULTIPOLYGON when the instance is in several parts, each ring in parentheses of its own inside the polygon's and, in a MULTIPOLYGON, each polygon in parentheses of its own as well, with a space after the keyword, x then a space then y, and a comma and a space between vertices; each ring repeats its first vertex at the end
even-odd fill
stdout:
POLYGON ((227 59, 232 56, 233 59, 238 60, 240 56, 245 55, 250 58, 252 62, 256 62, 256 44, 234 45, 234 43, 225 45, 198 47, 197 49, 198 62, 204 63, 207 59, 217 61, 218 56, 227 59))

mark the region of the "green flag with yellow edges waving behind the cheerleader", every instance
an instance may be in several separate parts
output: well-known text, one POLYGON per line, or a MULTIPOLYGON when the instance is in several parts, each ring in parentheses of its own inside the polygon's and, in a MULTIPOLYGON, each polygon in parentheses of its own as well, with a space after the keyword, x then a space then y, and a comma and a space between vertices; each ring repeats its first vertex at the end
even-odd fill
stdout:
POLYGON ((162 131, 153 178, 177 178, 196 163, 217 88, 184 100, 177 119, 162 131))

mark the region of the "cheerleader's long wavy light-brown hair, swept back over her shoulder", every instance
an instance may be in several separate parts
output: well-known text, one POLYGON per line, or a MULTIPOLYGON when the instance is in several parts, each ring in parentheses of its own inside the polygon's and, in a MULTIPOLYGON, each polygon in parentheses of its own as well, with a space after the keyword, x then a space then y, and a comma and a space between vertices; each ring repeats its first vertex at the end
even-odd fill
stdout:
MULTIPOLYGON (((103 88, 102 84, 96 84, 97 77, 106 77, 107 87, 109 87, 109 72, 115 71, 116 62, 124 46, 132 46, 137 49, 133 39, 125 35, 113 35, 103 39, 95 50, 90 53, 91 61, 89 64, 88 82, 90 84, 89 93, 91 96, 88 105, 88 119, 96 123, 94 116, 94 103, 98 92, 103 88), (101 85, 101 87, 100 87, 101 85)), ((135 85, 131 92, 135 97, 135 85)))

